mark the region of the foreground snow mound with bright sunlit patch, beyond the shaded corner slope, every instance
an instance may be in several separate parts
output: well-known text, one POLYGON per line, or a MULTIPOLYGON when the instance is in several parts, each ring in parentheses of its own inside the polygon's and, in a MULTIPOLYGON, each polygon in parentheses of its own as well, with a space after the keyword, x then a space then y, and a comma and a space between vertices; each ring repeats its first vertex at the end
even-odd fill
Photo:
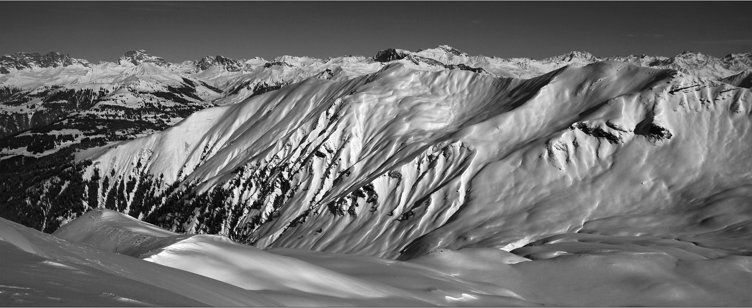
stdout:
MULTIPOLYGON (((112 210, 96 209, 60 228, 53 236, 79 240, 111 252, 112 244, 119 243, 117 253, 132 255, 129 252, 142 251, 132 256, 145 260, 141 261, 143 264, 149 261, 198 273, 247 290, 265 291, 262 293, 265 297, 291 306, 457 306, 456 300, 447 296, 462 297, 462 293, 475 294, 474 298, 481 298, 481 303, 540 306, 520 300, 519 296, 505 288, 489 288, 482 283, 456 279, 431 267, 378 258, 373 258, 376 264, 365 266, 375 267, 371 270, 399 267, 403 275, 409 273, 406 278, 412 282, 425 285, 426 289, 435 288, 434 291, 424 288, 405 290, 402 285, 392 286, 388 281, 378 282, 367 276, 350 276, 298 258, 234 243, 226 237, 171 235, 165 230, 133 220, 112 210), (126 243, 123 237, 129 237, 127 234, 137 236, 138 240, 126 243), (149 242, 148 239, 155 235, 165 240, 161 246, 149 242), (437 287, 442 289, 438 290, 437 287)), ((459 306, 465 305, 459 302, 459 306)))

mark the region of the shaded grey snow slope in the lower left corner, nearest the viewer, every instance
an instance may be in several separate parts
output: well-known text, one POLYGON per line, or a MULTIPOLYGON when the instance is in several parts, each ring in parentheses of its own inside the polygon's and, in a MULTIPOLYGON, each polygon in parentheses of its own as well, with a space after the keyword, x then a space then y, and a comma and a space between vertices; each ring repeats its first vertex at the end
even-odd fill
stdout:
POLYGON ((0 296, 17 306, 279 306, 234 285, 44 234, 2 218, 0 237, 4 255, 0 296), (55 282, 65 283, 65 288, 55 282))

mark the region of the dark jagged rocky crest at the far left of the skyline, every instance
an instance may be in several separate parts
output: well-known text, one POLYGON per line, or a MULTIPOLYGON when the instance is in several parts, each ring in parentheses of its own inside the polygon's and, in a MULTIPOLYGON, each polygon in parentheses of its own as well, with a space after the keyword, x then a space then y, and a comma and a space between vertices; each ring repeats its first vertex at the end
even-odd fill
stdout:
POLYGON ((40 53, 14 53, 0 58, 0 74, 8 74, 11 69, 21 70, 24 68, 54 68, 57 66, 82 65, 92 66, 84 59, 71 58, 68 54, 50 51, 44 55, 40 53))

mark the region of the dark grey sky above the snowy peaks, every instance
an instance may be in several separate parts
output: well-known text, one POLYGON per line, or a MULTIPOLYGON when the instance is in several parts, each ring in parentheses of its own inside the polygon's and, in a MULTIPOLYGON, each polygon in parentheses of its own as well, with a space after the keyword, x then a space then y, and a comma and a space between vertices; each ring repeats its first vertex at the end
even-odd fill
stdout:
POLYGON ((54 50, 92 62, 146 50, 169 62, 222 55, 373 56, 448 44, 543 59, 752 51, 752 2, 0 2, 0 54, 54 50))

